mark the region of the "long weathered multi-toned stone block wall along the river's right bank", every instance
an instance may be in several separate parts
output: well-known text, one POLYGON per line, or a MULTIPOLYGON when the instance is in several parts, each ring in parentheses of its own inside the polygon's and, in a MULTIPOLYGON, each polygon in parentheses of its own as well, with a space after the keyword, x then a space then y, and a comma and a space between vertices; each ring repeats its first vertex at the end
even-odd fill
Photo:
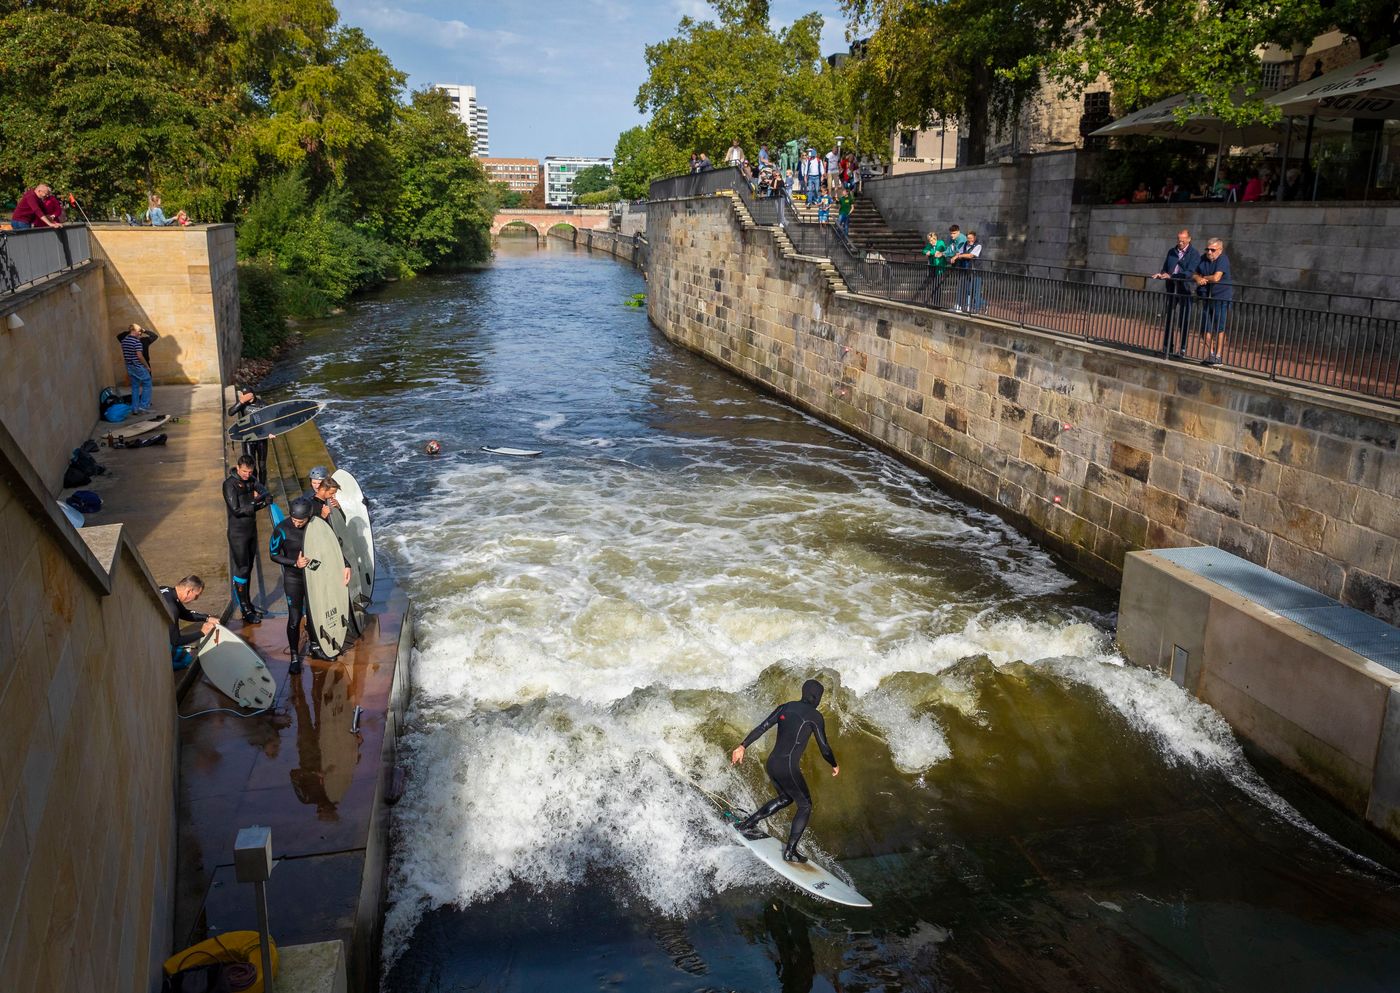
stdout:
POLYGON ((728 197, 652 203, 647 231, 668 338, 1085 571, 1218 545, 1400 619, 1400 412, 854 296, 728 197))

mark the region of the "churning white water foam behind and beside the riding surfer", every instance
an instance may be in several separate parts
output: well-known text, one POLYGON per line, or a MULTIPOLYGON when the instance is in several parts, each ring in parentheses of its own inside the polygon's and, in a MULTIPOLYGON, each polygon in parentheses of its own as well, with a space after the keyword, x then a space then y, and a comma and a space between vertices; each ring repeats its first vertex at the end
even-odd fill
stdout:
MULTIPOLYGON (((384 517, 421 616, 389 962, 427 909, 512 885, 608 871, 683 913, 762 880, 675 770, 756 800, 745 783, 757 777, 731 772, 703 728, 760 720, 773 667, 794 685, 836 672, 829 725, 872 730, 910 775, 952 748, 927 693, 896 676, 972 655, 1091 686, 1170 762, 1243 766, 1208 707, 1124 667, 1100 627, 1028 605, 1023 590, 1072 580, 1000 522, 888 485, 899 471, 883 462, 823 465, 834 483, 815 489, 735 472, 708 448, 687 440, 668 473, 571 458, 449 469, 441 500, 384 517)), ((980 720, 955 674, 938 693, 980 720)))

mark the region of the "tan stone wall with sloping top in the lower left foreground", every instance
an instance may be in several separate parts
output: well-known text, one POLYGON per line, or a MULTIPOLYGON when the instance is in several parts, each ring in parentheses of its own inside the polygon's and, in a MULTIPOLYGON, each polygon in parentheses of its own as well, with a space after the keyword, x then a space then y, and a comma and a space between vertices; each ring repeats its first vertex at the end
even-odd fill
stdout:
POLYGON ((0 436, 0 975, 146 993, 174 912, 165 612, 120 525, 73 531, 0 436))

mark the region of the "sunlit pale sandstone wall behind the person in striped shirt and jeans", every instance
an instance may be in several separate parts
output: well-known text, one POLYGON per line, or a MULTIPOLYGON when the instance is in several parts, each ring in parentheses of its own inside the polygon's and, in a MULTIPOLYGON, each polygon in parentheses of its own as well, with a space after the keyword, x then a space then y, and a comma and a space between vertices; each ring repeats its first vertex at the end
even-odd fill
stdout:
POLYGON ((112 335, 133 322, 161 335, 151 346, 157 382, 228 382, 242 350, 232 224, 98 224, 92 255, 108 263, 113 382, 125 382, 126 373, 112 335))

